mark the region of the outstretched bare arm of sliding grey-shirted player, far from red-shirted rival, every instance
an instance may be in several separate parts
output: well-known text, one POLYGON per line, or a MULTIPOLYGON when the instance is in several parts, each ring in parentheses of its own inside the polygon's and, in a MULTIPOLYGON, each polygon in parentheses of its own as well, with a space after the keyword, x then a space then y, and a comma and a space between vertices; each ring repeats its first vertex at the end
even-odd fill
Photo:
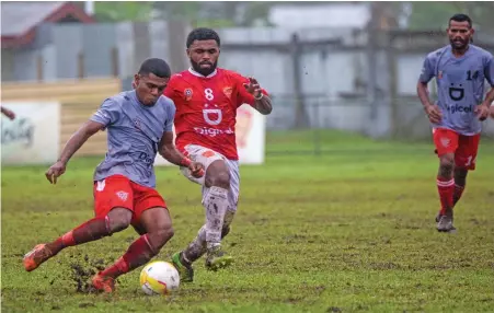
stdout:
POLYGON ((88 139, 103 128, 103 125, 93 120, 88 120, 67 141, 57 163, 46 171, 46 178, 51 183, 57 183, 57 177, 61 176, 67 167, 67 163, 88 139))

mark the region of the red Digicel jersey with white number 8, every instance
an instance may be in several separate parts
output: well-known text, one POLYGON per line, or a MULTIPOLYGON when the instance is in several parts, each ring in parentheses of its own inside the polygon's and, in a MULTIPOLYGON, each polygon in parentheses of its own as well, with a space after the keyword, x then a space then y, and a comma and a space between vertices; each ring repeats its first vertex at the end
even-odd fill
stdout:
MULTIPOLYGON (((163 94, 175 103, 175 144, 184 151, 198 144, 239 160, 235 142, 237 108, 254 104, 237 72, 217 69, 208 77, 192 69, 172 76, 163 94)), ((263 93, 266 92, 263 90, 263 93)))

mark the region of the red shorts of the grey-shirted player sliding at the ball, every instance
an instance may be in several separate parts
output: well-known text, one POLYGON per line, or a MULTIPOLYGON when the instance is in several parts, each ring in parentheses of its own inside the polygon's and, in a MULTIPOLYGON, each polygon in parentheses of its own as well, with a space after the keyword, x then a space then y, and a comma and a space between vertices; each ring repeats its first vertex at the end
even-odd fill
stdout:
POLYGON ((94 182, 94 215, 105 217, 113 208, 133 211, 131 224, 136 225, 143 211, 150 208, 166 208, 163 198, 153 188, 138 185, 123 175, 112 175, 94 182))

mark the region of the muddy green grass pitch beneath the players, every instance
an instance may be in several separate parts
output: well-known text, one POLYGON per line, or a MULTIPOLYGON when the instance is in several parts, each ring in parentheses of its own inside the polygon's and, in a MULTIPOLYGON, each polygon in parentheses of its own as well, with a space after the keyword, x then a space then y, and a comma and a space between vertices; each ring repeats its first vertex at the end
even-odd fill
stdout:
MULTIPOLYGON (((268 152, 310 149, 310 134, 273 134, 268 152)), ((435 230, 437 159, 428 143, 372 142, 328 132, 319 156, 269 154, 242 166, 241 204, 226 248, 231 268, 208 273, 169 298, 146 297, 140 268, 114 294, 78 292, 96 266, 119 257, 131 229, 68 248, 25 273, 22 256, 92 218, 100 159, 76 159, 57 186, 45 167, 2 169, 3 312, 493 312, 494 144, 456 209, 457 234, 435 230), (368 149, 368 150, 366 150, 368 149), (78 276, 74 276, 74 269, 78 276)), ((175 236, 157 259, 192 240, 204 221, 199 187, 158 170, 175 236)))

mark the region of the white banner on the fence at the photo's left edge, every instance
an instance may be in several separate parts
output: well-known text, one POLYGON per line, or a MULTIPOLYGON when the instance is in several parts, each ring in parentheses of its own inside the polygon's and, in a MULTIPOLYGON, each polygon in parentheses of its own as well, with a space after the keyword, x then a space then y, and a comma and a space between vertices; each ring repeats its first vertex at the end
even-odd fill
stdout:
POLYGON ((60 143, 60 104, 2 102, 15 113, 2 115, 2 163, 49 164, 57 161, 60 143))

